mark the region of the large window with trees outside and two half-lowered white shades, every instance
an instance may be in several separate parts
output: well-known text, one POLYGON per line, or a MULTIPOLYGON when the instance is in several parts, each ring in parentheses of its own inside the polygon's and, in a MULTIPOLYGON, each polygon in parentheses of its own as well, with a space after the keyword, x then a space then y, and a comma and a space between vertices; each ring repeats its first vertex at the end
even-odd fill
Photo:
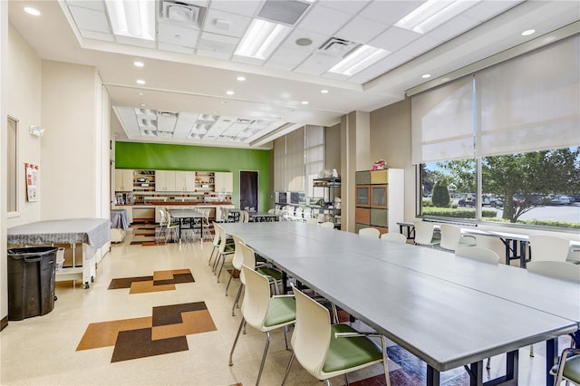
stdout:
POLYGON ((580 228, 579 63, 575 35, 411 97, 419 214, 580 228))

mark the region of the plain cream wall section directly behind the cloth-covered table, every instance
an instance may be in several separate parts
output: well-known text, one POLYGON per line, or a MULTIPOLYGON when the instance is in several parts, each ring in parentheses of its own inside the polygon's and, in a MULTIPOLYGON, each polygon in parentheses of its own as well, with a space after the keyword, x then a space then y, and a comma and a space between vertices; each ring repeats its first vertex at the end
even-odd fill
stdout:
POLYGON ((43 61, 43 220, 102 215, 96 76, 92 66, 43 61))

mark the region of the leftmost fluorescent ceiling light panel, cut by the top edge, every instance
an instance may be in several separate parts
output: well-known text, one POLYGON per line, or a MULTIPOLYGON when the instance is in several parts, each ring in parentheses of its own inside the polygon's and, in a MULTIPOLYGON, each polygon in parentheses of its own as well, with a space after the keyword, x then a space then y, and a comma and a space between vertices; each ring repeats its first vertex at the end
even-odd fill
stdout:
POLYGON ((113 34, 155 40, 155 2, 150 0, 105 1, 113 34))

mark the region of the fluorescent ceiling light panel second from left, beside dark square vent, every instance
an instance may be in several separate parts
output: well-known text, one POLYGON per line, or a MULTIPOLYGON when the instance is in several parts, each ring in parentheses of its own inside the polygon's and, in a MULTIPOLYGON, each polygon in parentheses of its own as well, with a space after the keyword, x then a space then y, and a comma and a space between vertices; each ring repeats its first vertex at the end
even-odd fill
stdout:
POLYGON ((254 19, 237 46, 239 56, 266 60, 292 30, 284 24, 254 19))

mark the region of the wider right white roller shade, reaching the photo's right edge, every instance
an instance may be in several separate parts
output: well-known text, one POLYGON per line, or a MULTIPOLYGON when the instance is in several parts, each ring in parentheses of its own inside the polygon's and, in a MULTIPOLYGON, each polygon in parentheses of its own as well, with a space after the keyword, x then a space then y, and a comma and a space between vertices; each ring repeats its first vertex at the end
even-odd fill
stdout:
POLYGON ((478 156, 580 144, 580 37, 476 74, 478 156))

